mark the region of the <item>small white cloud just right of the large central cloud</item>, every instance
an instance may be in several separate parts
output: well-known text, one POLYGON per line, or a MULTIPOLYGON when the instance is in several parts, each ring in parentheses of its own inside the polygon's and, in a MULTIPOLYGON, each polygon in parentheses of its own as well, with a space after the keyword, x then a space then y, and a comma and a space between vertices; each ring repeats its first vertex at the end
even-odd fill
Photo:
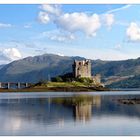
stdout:
POLYGON ((114 15, 113 14, 105 14, 104 16, 105 16, 105 24, 110 28, 115 21, 114 15))

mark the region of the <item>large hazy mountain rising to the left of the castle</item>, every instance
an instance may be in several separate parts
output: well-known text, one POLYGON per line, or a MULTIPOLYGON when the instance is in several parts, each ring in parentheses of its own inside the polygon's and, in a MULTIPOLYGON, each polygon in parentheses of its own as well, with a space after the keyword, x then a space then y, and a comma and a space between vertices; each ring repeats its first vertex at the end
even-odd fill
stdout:
POLYGON ((83 60, 85 58, 54 54, 27 57, 14 61, 0 69, 0 81, 38 82, 39 80, 71 72, 71 65, 75 59, 83 60))

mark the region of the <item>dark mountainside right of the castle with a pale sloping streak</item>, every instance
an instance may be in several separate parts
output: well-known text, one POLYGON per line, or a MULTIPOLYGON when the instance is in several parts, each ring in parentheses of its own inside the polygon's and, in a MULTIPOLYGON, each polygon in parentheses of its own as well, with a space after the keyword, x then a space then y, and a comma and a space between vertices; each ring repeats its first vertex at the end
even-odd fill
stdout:
POLYGON ((94 69, 110 88, 140 88, 140 58, 109 61, 94 69))

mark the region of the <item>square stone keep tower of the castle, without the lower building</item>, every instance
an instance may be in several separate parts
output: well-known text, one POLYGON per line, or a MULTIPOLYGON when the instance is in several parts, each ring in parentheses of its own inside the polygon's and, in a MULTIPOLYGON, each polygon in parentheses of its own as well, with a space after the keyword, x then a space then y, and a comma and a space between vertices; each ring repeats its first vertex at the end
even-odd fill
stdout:
POLYGON ((74 61, 73 64, 74 77, 91 77, 91 62, 90 60, 74 61))

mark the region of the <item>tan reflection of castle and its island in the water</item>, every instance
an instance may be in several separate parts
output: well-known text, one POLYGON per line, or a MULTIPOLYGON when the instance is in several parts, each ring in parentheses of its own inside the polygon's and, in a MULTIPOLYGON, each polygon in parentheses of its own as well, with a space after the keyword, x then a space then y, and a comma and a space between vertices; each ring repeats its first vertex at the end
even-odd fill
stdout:
POLYGON ((65 106, 73 107, 73 116, 76 121, 90 121, 92 118, 92 107, 101 106, 101 96, 79 95, 70 98, 55 98, 53 103, 61 103, 65 106))

